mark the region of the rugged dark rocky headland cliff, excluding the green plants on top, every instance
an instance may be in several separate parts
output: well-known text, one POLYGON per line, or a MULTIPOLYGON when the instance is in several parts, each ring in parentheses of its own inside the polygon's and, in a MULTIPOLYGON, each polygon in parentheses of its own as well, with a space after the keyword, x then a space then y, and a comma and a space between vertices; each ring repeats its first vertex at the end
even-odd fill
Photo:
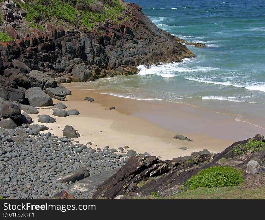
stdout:
POLYGON ((18 60, 59 83, 89 81, 115 74, 135 74, 140 64, 180 62, 194 57, 186 46, 178 43, 181 39, 157 28, 142 13, 141 6, 126 2, 120 5, 122 10, 116 21, 106 19, 88 30, 82 25, 75 27, 67 22, 59 25, 47 19, 37 24, 28 22, 26 10, 11 0, 2 2, 0 31, 14 40, 0 42, 1 75, 14 68, 12 60, 18 60))

